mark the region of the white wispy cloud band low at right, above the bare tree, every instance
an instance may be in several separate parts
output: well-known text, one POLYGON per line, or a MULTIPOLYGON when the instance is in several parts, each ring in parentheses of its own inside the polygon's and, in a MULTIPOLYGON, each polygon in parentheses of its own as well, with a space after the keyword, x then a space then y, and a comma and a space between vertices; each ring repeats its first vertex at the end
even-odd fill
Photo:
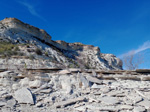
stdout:
POLYGON ((137 54, 137 53, 140 53, 140 52, 142 52, 142 51, 144 51, 146 49, 149 49, 149 48, 150 48, 150 41, 148 40, 148 41, 144 42, 141 46, 139 46, 137 49, 130 50, 127 53, 119 55, 118 57, 119 58, 123 58, 124 56, 128 56, 128 55, 130 55, 133 52, 134 52, 134 54, 137 54))

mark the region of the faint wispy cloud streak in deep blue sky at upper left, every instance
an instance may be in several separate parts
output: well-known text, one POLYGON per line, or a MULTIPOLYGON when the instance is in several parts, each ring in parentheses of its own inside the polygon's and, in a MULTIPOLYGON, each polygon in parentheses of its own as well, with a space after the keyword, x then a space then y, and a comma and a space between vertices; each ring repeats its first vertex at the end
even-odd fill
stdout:
POLYGON ((36 16, 44 21, 46 21, 37 11, 34 5, 26 2, 26 1, 17 1, 18 3, 20 3, 21 5, 25 6, 27 8, 27 10, 33 15, 36 16))

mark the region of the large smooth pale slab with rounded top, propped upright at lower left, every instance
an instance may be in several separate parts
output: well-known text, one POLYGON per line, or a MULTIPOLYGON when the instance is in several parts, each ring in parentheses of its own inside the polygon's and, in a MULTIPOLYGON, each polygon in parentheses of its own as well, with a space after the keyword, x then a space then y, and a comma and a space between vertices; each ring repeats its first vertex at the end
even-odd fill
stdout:
POLYGON ((18 101, 18 103, 34 104, 32 93, 28 88, 22 88, 15 91, 14 98, 18 101))

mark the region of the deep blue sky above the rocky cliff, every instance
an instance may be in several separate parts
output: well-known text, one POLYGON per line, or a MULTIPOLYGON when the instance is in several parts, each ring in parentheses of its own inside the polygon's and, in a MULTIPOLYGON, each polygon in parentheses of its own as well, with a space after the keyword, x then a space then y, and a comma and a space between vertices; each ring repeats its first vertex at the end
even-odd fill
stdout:
MULTIPOLYGON (((0 0, 0 4, 0 20, 18 18, 46 30, 52 40, 99 46, 102 53, 119 58, 150 49, 150 0, 0 0)), ((149 61, 148 53, 144 57, 149 61)), ((150 68, 150 63, 141 67, 150 68)))

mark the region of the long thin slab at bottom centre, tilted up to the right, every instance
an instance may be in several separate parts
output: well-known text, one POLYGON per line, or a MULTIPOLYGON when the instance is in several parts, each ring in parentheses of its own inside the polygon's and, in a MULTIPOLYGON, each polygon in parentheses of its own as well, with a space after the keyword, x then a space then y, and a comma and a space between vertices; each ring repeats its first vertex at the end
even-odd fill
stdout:
POLYGON ((74 104, 76 102, 84 101, 84 100, 85 100, 85 97, 78 97, 78 98, 75 98, 75 99, 69 99, 67 101, 62 101, 62 102, 55 103, 55 107, 56 108, 64 107, 64 106, 71 105, 71 104, 74 104))

